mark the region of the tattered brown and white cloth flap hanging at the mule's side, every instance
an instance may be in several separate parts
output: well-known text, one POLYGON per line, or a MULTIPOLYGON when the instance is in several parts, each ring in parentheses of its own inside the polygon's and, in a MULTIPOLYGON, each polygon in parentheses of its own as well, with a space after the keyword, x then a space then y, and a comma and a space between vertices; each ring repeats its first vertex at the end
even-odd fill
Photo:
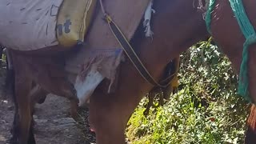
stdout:
POLYGON ((74 88, 77 90, 79 106, 84 105, 95 88, 104 78, 110 80, 108 92, 113 89, 117 70, 123 58, 122 49, 91 50, 86 49, 86 58, 82 70, 76 78, 74 88))

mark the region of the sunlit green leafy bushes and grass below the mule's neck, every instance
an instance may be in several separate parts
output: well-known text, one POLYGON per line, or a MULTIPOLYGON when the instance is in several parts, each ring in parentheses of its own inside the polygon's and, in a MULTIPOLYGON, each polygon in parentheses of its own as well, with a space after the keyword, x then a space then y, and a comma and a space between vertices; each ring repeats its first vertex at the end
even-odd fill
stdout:
POLYGON ((144 117, 147 99, 128 122, 132 144, 242 143, 248 104, 236 96, 238 78, 229 60, 210 42, 181 55, 179 91, 144 117))

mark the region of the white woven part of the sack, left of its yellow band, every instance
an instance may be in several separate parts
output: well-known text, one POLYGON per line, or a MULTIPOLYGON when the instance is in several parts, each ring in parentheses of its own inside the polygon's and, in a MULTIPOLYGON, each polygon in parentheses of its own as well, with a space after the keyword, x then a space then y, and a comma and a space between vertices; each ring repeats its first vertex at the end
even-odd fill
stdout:
POLYGON ((58 45, 56 18, 63 0, 1 0, 0 43, 14 50, 58 45))

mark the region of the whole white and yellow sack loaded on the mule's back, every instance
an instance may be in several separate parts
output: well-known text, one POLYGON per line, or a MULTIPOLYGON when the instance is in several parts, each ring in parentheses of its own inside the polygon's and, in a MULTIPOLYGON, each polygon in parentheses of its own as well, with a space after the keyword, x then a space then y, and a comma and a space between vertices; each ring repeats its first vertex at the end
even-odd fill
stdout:
POLYGON ((97 0, 0 1, 0 42, 14 50, 84 41, 97 0))

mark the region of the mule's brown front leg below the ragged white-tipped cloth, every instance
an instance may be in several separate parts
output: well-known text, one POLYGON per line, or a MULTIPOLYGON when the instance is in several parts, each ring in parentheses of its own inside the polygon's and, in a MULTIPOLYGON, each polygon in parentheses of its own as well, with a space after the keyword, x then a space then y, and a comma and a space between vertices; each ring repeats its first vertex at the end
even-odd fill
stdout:
POLYGON ((96 90, 90 98, 89 121, 96 133, 97 144, 126 143, 126 124, 142 96, 118 91, 116 94, 104 94, 96 90))

